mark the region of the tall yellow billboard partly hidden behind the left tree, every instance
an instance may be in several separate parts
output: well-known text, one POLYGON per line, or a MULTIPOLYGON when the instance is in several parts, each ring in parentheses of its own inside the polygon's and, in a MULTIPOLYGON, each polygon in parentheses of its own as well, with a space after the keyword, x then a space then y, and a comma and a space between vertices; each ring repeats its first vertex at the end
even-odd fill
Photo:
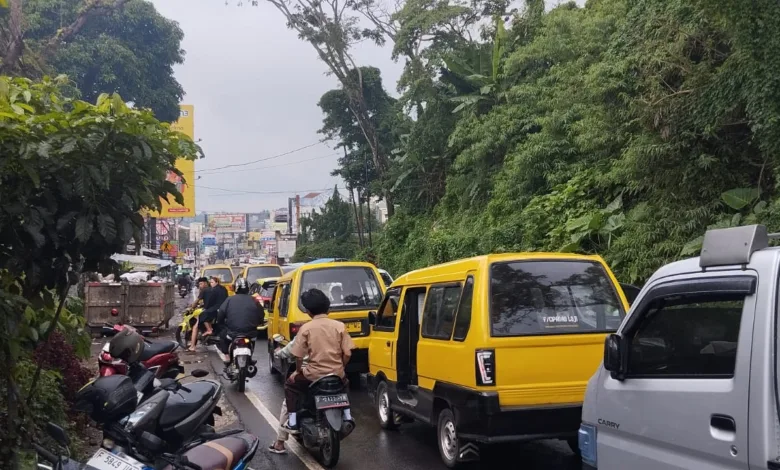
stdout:
MULTIPOLYGON (((179 120, 171 124, 171 129, 186 134, 192 140, 195 140, 195 107, 191 104, 182 104, 179 108, 179 120)), ((176 188, 184 197, 184 204, 177 204, 173 197, 171 197, 171 203, 163 200, 162 211, 160 214, 150 214, 152 217, 171 219, 195 216, 195 161, 180 158, 176 160, 176 168, 181 172, 182 176, 168 172, 167 179, 176 185, 176 188)))

